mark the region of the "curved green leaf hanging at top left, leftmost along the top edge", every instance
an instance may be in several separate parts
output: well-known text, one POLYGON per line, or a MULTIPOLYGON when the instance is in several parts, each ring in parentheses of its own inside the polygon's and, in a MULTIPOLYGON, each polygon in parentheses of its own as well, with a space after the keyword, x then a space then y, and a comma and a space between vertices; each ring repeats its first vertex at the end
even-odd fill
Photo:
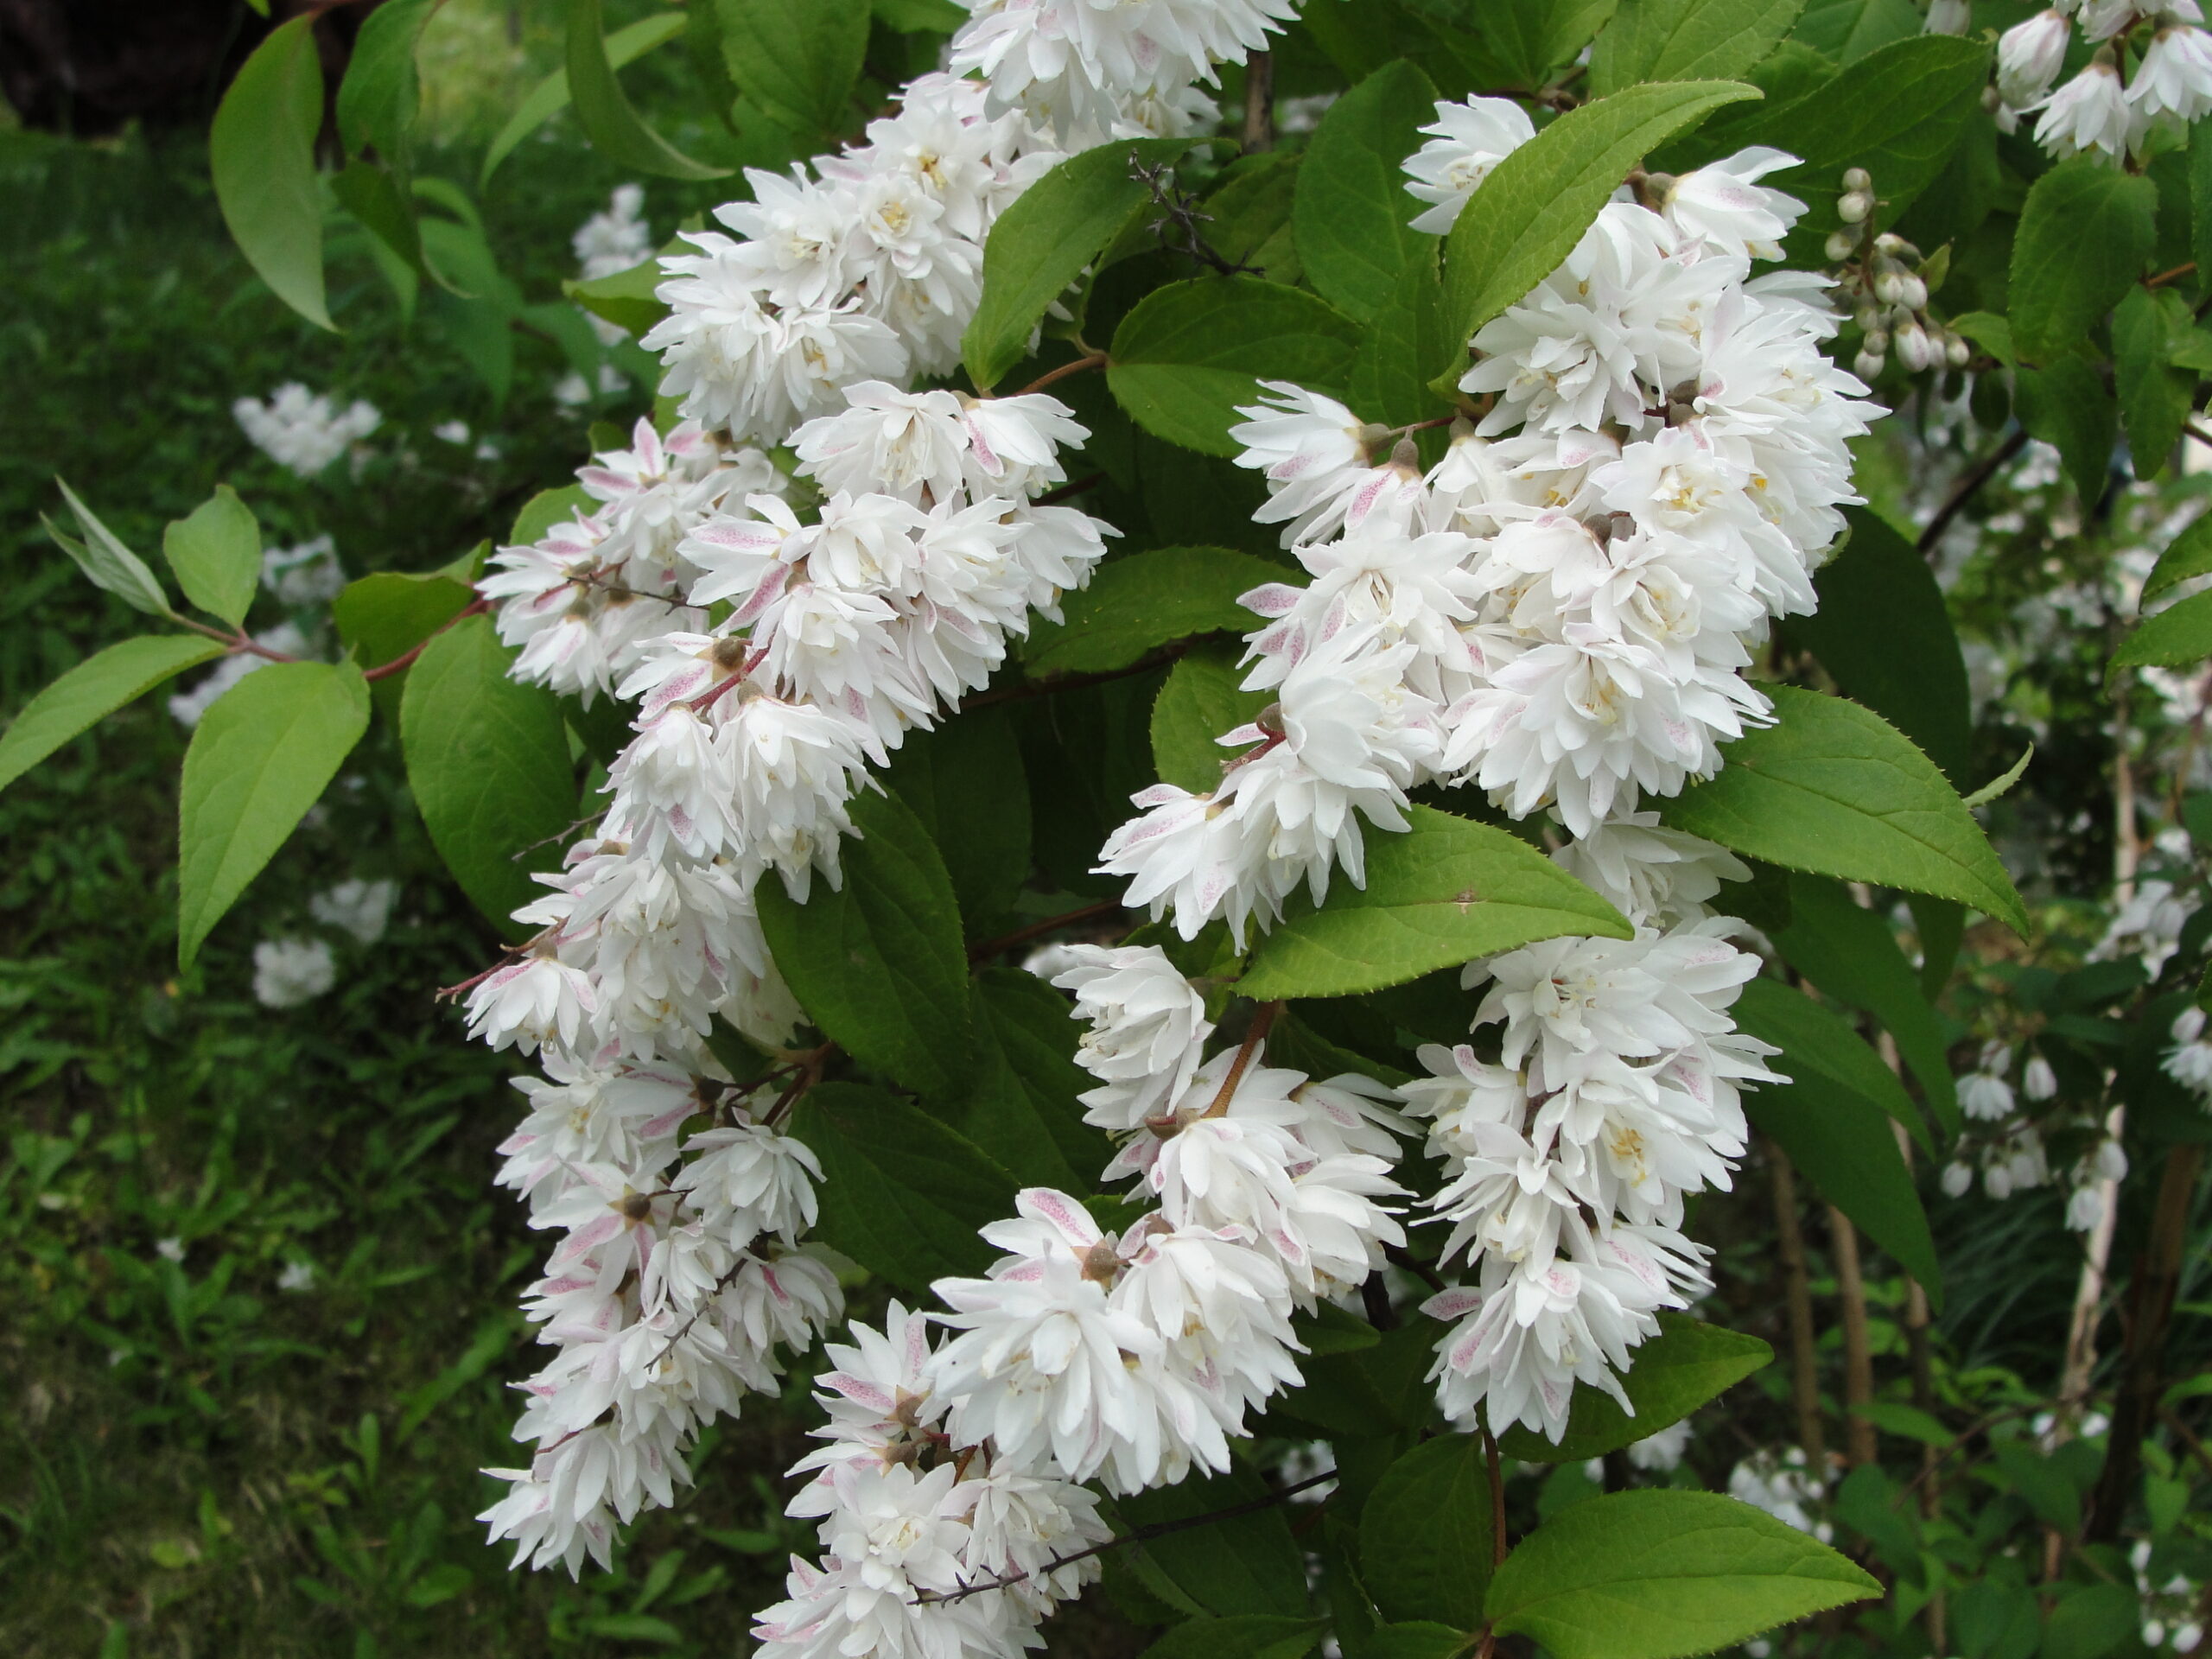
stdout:
POLYGON ((307 13, 276 24, 230 82, 208 133, 208 164, 246 263, 276 299, 336 332, 323 303, 321 128, 323 62, 307 13))

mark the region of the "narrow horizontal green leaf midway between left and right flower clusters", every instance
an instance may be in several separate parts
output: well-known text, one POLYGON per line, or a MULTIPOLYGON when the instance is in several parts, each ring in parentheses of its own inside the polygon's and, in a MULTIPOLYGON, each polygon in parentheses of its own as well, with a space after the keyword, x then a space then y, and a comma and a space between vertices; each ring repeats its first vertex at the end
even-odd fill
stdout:
POLYGON ((1022 668, 1031 679, 1095 675, 1192 635, 1245 633, 1259 624, 1239 595, 1281 575, 1283 566, 1225 546, 1155 546, 1108 560, 1088 588, 1060 602, 1064 622, 1037 624, 1022 668))

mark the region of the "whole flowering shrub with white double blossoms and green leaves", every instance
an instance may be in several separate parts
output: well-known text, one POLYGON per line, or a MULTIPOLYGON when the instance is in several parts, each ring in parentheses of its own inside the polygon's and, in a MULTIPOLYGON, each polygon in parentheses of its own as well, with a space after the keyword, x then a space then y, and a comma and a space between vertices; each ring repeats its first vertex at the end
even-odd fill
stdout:
MULTIPOLYGON (((336 100, 334 201, 403 294, 489 259, 409 188, 429 9, 385 4, 336 100)), ((396 719, 431 841, 511 940, 442 995, 531 1062, 498 1181, 553 1237, 524 1296, 546 1356, 482 1515, 518 1564, 606 1566, 681 1502, 701 1429, 821 1347, 787 1509, 818 1551, 759 1610, 763 1650, 1011 1655, 1124 1548, 1168 1608, 1259 1619, 1219 1632, 1254 1652, 1668 1659, 1885 1590, 1867 1628, 1933 1608, 1942 1650, 1951 1557, 1874 1520, 1902 1493, 1860 1444, 1858 1239, 1924 1332, 1913 1159, 1951 1197, 2039 1186, 2015 1106, 2064 1095, 2101 1274, 2126 1130, 2084 1108, 2126 1084, 2081 1009, 2183 989, 2159 975, 2203 936, 2117 991, 2022 982, 2017 1091, 1995 1015, 1953 1077, 1936 1000, 1969 911, 2031 933, 1973 816, 2020 768, 1969 772, 1942 588, 1854 467, 1891 405, 1966 394, 1995 429, 2017 403, 1936 546, 2031 434, 2086 504, 2115 420, 2139 476, 2166 465, 2212 367, 2194 263, 2154 270, 2197 234, 2194 7, 2086 7, 2104 44, 2055 93, 2066 15, 1991 51, 1951 4, 1834 55, 1796 7, 1734 0, 1422 4, 1383 44, 1327 0, 911 11, 690 9, 739 139, 830 144, 726 199, 624 97, 639 38, 577 0, 533 106, 573 97, 595 144, 710 206, 635 263, 633 195, 577 237, 577 374, 630 352, 655 414, 498 551, 343 586, 338 661, 246 633, 263 580, 330 595, 316 549, 265 568, 228 489, 164 538, 201 622, 64 487, 55 540, 184 630, 49 688, 0 783, 237 664, 184 768, 190 960, 396 719), (1279 73, 1323 100, 1298 150, 1279 73), (2015 131, 2031 108, 2055 164, 2015 131), (1692 1316, 1717 1290, 1699 1201, 1754 1133, 1794 1316, 1794 1175, 1832 1206, 1858 1296, 1834 1509, 1889 1586, 1829 1542, 1809 1314, 1801 1447, 1745 1458, 1732 1498, 1652 1482, 1509 1535, 1506 1460, 1663 1475, 1767 1363, 1692 1316), (896 1296, 880 1325, 847 1321, 863 1285, 896 1296), (1334 1462, 1267 1489, 1261 1433, 1334 1462), (1274 1502, 1329 1480, 1310 1568, 1274 1502), (1155 1548, 1252 1515, 1248 1586, 1155 1548)), ((321 188, 310 24, 239 75, 215 173, 270 288, 327 321, 321 215, 281 208, 321 188)), ((314 473, 376 414, 285 387, 239 420, 314 473)), ((2146 593, 2212 571, 2203 546, 2146 593)), ((2201 604, 2112 668, 2201 661, 2201 604)), ((385 905, 316 916, 372 940, 385 905)), ((281 1006, 334 958, 268 942, 257 969, 281 1006)), ((2141 1006, 2152 1071, 2205 1091, 2201 1013, 2141 1006)), ((2203 1128, 2161 1135, 2185 1219, 2203 1128)), ((2093 1509, 2068 1489, 2053 1531, 2119 1537, 2163 1318, 2139 1310, 2093 1509)), ((1891 1433, 1936 1422, 1898 1411, 1891 1433)), ((2073 1427, 2048 1433, 2057 1460, 2073 1427)), ((2117 1588, 2081 1559, 2066 1590, 2117 1588)), ((2148 1555, 2132 1573, 2179 1599, 2148 1555)))

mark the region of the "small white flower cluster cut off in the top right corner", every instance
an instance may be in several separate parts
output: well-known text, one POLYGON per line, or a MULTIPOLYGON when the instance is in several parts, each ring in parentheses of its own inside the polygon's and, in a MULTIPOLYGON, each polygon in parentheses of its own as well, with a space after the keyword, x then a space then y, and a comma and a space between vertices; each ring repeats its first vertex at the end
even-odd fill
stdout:
POLYGON ((2212 111, 2212 35, 2197 0, 2059 0, 1997 40, 1997 124, 2011 133, 2037 115, 2035 142, 2057 159, 2095 155, 2139 161, 2157 133, 2179 133, 2212 111), (2053 91, 2075 24, 2097 53, 2053 91), (2128 38, 2137 62, 2124 80, 2128 38))

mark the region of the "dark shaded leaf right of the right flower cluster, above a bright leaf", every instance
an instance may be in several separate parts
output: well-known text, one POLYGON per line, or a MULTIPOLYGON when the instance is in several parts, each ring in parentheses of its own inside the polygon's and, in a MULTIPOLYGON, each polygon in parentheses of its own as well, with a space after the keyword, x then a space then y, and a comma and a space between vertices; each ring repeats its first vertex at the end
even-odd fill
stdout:
POLYGON ((1973 699, 1942 588, 1887 520, 1865 507, 1845 518, 1851 540, 1814 577, 1820 608, 1790 617, 1790 639, 1812 648, 1845 697, 1905 732, 1964 787, 1973 699))

